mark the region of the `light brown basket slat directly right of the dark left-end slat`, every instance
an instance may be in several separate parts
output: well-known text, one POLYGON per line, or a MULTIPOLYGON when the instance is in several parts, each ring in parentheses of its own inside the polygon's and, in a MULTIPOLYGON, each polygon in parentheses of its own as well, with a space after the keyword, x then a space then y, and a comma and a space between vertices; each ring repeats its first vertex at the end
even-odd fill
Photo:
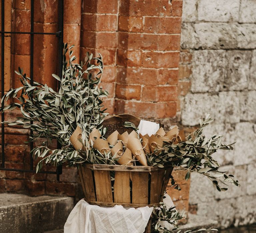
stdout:
POLYGON ((113 202, 110 171, 94 170, 97 201, 113 202))

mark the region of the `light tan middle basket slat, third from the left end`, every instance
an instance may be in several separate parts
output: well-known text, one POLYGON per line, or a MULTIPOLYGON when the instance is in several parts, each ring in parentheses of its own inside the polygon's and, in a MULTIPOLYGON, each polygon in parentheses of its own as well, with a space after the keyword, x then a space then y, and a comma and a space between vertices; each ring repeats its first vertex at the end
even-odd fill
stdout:
POLYGON ((114 202, 131 203, 130 174, 127 171, 115 172, 114 202))

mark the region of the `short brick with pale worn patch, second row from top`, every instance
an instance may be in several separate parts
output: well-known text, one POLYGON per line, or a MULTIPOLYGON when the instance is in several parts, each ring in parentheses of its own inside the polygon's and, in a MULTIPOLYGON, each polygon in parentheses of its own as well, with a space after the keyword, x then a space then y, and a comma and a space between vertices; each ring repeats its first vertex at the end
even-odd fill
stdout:
POLYGON ((143 17, 119 15, 118 30, 125 32, 143 32, 143 17))

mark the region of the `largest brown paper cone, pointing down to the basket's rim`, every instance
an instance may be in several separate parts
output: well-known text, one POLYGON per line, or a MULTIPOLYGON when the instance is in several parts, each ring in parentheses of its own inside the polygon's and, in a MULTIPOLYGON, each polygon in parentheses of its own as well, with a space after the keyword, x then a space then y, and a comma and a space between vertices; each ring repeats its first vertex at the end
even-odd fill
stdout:
POLYGON ((131 150, 132 155, 139 161, 143 166, 147 166, 146 155, 143 150, 143 146, 140 143, 140 140, 134 137, 129 137, 127 142, 127 148, 131 150))

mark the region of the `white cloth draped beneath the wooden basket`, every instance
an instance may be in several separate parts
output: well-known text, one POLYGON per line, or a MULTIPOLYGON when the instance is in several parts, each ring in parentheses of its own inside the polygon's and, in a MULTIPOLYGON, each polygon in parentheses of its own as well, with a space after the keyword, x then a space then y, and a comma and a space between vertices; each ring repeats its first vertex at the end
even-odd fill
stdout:
POLYGON ((100 207, 80 200, 64 226, 64 233, 143 233, 153 207, 100 207))

